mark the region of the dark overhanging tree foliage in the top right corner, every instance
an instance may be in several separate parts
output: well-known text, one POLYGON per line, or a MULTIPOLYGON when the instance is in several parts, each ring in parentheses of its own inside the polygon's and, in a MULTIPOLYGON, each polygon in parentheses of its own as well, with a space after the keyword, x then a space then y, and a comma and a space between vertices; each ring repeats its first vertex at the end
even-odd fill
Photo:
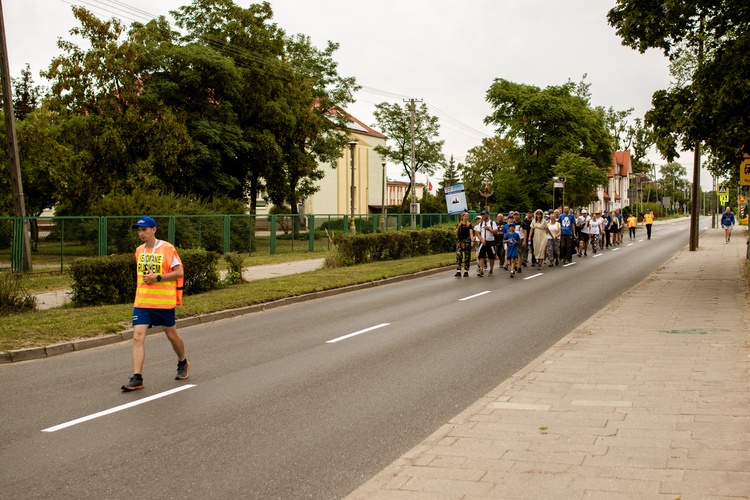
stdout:
MULTIPOLYGON (((705 144, 714 174, 738 174, 750 144, 750 16, 730 0, 618 0, 608 20, 623 45, 660 49, 670 58, 673 84, 657 91, 646 120, 668 160, 705 144)), ((695 169, 696 172, 698 169, 695 169)))

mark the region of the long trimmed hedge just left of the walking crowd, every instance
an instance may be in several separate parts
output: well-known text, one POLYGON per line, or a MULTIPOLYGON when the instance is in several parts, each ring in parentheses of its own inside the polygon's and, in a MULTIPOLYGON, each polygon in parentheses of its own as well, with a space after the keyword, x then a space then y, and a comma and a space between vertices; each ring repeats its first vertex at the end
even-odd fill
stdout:
POLYGON ((364 264, 452 252, 456 249, 456 234, 451 229, 436 227, 418 231, 341 235, 336 237, 334 243, 342 261, 364 264))

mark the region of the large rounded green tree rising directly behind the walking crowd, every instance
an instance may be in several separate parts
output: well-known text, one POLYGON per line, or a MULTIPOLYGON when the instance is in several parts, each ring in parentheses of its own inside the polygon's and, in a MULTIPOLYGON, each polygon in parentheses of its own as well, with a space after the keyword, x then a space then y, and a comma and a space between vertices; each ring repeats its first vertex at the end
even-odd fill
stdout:
POLYGON ((514 140, 512 156, 532 206, 549 206, 553 166, 563 153, 589 158, 595 165, 612 163, 612 144, 601 109, 591 107, 585 81, 540 89, 496 79, 487 91, 493 108, 485 122, 498 135, 514 140))

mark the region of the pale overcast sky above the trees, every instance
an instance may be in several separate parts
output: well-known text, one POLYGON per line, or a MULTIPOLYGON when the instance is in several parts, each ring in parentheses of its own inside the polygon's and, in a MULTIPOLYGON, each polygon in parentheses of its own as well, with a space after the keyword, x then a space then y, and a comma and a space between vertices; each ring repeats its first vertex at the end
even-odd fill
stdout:
MULTIPOLYGON (((168 15, 189 0, 2 0, 13 76, 26 63, 34 78, 60 53, 57 39, 75 25, 71 4, 126 23, 168 15)), ((248 0, 235 0, 247 6, 248 0)), ((340 44, 339 72, 363 90, 348 111, 374 125, 374 105, 423 100, 440 118, 444 153, 463 161, 493 130, 485 95, 496 78, 546 87, 584 74, 592 104, 634 108, 642 117, 655 90, 669 85, 668 62, 657 51, 623 47, 606 14, 615 0, 275 0, 274 20, 323 47, 340 44)), ((658 155, 651 160, 665 163, 658 155)), ((692 180, 692 154, 678 159, 692 180)), ((391 167, 389 176, 400 169, 391 167)), ((710 175, 702 176, 710 189, 710 175)), ((423 179, 419 179, 423 180, 423 179)))

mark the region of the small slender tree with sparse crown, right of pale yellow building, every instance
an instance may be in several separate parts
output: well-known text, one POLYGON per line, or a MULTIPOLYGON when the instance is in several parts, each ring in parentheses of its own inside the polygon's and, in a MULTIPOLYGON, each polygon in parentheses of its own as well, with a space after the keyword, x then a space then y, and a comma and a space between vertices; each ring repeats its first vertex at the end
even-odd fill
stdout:
MULTIPOLYGON (((387 137, 386 146, 376 146, 375 151, 387 161, 401 165, 405 177, 411 179, 411 109, 399 104, 382 102, 375 105, 375 121, 387 137)), ((437 140, 440 124, 436 116, 427 112, 422 103, 414 110, 414 173, 434 174, 445 161, 442 153, 444 141, 437 140)), ((408 206, 411 186, 406 189, 402 211, 408 206)))

